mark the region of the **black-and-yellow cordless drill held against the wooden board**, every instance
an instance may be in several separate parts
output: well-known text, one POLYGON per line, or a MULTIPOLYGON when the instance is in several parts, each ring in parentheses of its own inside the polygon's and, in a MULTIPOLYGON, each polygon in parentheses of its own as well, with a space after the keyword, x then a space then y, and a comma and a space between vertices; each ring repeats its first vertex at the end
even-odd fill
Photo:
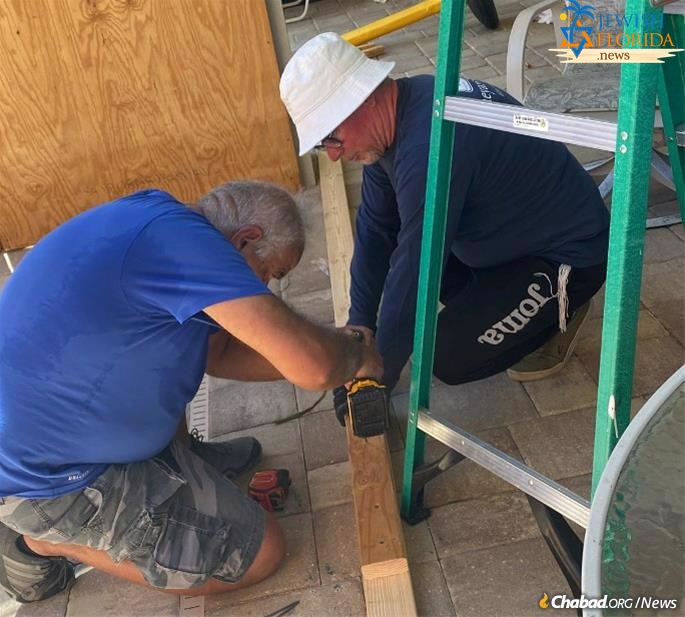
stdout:
MULTIPOLYGON (((352 336, 360 343, 363 341, 360 332, 352 336)), ((333 405, 342 426, 349 412, 356 437, 382 435, 390 427, 387 389, 371 377, 353 380, 349 389, 340 386, 333 390, 333 405)))

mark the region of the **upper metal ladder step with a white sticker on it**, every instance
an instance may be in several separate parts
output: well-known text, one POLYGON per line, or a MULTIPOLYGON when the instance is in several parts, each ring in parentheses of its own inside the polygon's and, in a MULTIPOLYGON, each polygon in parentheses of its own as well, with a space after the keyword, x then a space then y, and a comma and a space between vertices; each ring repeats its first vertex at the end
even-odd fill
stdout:
POLYGON ((445 98, 445 120, 561 141, 614 152, 616 124, 604 120, 553 114, 508 103, 476 101, 463 96, 445 98))

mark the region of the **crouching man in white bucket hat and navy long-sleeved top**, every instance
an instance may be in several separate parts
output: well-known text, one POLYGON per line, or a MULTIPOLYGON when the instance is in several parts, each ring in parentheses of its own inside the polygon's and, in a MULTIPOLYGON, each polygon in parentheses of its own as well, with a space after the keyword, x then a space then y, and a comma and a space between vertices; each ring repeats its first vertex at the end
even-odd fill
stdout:
MULTIPOLYGON (((427 75, 388 78, 393 66, 324 33, 281 78, 300 154, 364 165, 348 324, 377 346, 390 389, 412 348, 434 92, 427 75)), ((459 94, 519 104, 479 80, 460 79, 459 94)), ((605 278, 594 182, 562 144, 458 123, 448 198, 435 375, 559 371, 605 278)))

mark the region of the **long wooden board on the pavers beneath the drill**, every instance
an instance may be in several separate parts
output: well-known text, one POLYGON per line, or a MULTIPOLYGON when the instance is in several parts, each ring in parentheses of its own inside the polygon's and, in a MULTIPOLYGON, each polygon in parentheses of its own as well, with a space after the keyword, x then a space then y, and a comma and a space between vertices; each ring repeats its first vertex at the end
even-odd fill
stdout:
MULTIPOLYGON (((335 323, 344 326, 350 306, 353 238, 340 161, 333 163, 320 154, 319 177, 335 323)), ((387 438, 360 439, 350 425, 347 422, 347 446, 367 615, 411 617, 416 615, 416 604, 387 438)))

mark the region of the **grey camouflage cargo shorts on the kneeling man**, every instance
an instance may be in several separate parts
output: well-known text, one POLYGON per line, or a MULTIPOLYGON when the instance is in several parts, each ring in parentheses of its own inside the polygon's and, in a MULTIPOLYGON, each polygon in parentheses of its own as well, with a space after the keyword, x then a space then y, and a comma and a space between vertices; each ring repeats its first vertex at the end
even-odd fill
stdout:
POLYGON ((154 458, 110 465, 74 493, 0 498, 0 522, 37 540, 131 561, 153 587, 187 589, 211 577, 240 580, 259 552, 265 514, 174 441, 154 458))

